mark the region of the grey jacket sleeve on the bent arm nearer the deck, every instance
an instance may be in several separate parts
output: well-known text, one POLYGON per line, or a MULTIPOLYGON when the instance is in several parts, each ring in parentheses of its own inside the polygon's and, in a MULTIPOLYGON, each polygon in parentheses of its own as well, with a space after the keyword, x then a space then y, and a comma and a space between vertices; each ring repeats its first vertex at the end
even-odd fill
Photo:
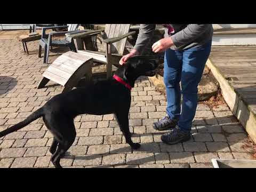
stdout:
POLYGON ((186 28, 171 36, 175 47, 189 44, 206 31, 211 24, 189 24, 186 28))

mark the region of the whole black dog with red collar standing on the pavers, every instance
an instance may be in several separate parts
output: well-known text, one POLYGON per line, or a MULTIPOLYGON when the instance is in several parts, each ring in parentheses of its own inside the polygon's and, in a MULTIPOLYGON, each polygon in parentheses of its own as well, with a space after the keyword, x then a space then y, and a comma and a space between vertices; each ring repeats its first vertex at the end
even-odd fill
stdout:
POLYGON ((139 143, 133 143, 129 130, 129 110, 131 89, 139 76, 154 76, 158 66, 157 57, 137 55, 121 66, 113 77, 106 81, 89 83, 66 93, 55 95, 24 121, 0 132, 0 138, 25 127, 39 117, 53 134, 50 147, 51 162, 61 168, 60 159, 73 144, 76 137, 74 118, 81 114, 115 114, 125 140, 132 149, 138 149, 139 143), (58 148, 57 148, 58 146, 58 148))

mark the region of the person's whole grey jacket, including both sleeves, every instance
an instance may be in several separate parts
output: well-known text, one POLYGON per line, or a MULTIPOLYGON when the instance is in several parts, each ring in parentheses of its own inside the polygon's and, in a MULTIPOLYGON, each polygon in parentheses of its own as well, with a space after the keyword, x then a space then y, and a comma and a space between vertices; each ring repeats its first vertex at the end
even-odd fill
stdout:
MULTIPOLYGON (((174 34, 169 35, 165 28, 164 37, 172 37, 174 46, 172 50, 185 50, 198 47, 212 39, 212 24, 169 24, 174 29, 174 34)), ((153 37, 156 24, 140 24, 140 32, 134 46, 141 53, 153 37)))

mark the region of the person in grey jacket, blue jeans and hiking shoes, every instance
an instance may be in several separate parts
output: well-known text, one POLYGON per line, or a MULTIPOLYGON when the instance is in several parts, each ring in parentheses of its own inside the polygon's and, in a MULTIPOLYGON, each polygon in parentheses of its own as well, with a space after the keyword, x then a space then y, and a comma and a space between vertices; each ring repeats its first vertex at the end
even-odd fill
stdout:
MULTIPOLYGON (((165 52, 167 107, 166 116, 153 123, 153 127, 161 131, 171 129, 162 135, 161 140, 174 145, 191 137, 197 107, 197 86, 211 52, 213 27, 212 24, 164 24, 164 27, 164 38, 154 43, 152 50, 155 53, 165 52)), ((142 54, 153 37, 155 28, 155 24, 140 24, 134 49, 121 58, 121 65, 130 57, 142 54)))

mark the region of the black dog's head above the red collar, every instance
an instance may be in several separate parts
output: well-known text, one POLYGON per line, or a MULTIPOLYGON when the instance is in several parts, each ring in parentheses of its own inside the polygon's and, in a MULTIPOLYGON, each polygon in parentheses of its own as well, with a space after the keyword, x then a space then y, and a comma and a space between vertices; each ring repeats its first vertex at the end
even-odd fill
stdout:
POLYGON ((159 58, 154 56, 136 55, 125 63, 126 73, 139 76, 154 76, 159 64, 159 58))

